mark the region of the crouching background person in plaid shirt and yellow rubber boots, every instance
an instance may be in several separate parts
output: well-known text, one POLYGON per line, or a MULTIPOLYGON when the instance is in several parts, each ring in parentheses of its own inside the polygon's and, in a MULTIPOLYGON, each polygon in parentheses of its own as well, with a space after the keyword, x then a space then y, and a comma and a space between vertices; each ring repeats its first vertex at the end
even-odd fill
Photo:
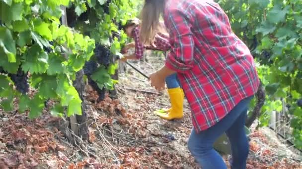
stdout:
MULTIPOLYGON (((157 33, 155 36, 155 41, 152 45, 143 45, 140 41, 139 26, 138 19, 131 19, 127 21, 127 23, 123 26, 123 30, 126 32, 129 38, 133 38, 133 43, 128 43, 124 47, 124 52, 126 52, 129 48, 134 47, 135 53, 130 55, 125 55, 121 60, 127 61, 128 59, 142 59, 144 50, 160 50, 166 52, 170 49, 171 45, 168 40, 168 36, 163 33, 157 33)), ((162 24, 163 26, 163 24, 162 24)), ((164 30, 162 30, 164 31, 164 30)), ((168 88, 168 94, 170 97, 171 108, 169 109, 160 109, 155 111, 154 113, 162 119, 173 120, 180 119, 183 117, 183 99, 184 93, 182 88, 179 85, 176 74, 172 74, 165 78, 165 82, 168 88)))

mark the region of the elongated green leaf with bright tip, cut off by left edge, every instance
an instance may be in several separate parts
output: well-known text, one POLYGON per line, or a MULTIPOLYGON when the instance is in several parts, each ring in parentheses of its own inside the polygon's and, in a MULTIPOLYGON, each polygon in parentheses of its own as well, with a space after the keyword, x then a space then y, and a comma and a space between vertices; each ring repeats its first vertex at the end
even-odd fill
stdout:
POLYGON ((16 62, 16 46, 10 31, 5 27, 0 27, 0 53, 4 52, 8 62, 16 62))

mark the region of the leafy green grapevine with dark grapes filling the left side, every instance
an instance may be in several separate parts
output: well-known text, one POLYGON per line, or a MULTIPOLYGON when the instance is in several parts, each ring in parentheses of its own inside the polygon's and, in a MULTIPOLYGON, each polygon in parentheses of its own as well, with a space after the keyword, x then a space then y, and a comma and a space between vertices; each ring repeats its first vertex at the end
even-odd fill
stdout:
POLYGON ((116 69, 112 56, 119 54, 126 37, 114 23, 125 23, 135 16, 137 11, 129 9, 136 3, 0 0, 0 107, 12 110, 13 98, 19 97, 19 112, 29 110, 29 117, 35 118, 52 99, 57 103, 51 108, 53 114, 81 115, 82 100, 73 81, 83 68, 102 99, 105 88, 111 89, 116 83, 110 78, 116 69), (61 24, 62 6, 67 8, 69 27, 61 24), (124 40, 118 40, 113 32, 124 40), (98 64, 84 66, 93 61, 98 64), (26 95, 29 87, 37 91, 33 96, 26 95))

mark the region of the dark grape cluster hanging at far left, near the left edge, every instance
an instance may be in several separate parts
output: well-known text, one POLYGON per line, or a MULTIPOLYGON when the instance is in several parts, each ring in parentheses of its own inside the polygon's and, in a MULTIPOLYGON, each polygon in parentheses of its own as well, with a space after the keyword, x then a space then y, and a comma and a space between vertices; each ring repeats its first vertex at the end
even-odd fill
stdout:
POLYGON ((16 74, 8 73, 7 75, 12 80, 18 91, 23 94, 26 94, 29 91, 28 72, 23 72, 21 67, 19 67, 16 74))

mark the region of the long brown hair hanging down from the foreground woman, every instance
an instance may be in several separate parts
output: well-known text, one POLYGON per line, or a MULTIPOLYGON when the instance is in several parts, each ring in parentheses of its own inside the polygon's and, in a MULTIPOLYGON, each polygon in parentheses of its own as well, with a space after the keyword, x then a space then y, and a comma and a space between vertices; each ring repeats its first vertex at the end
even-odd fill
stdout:
POLYGON ((159 24, 159 18, 163 14, 165 0, 145 0, 141 11, 140 40, 144 44, 151 44, 155 35, 164 29, 159 24))

